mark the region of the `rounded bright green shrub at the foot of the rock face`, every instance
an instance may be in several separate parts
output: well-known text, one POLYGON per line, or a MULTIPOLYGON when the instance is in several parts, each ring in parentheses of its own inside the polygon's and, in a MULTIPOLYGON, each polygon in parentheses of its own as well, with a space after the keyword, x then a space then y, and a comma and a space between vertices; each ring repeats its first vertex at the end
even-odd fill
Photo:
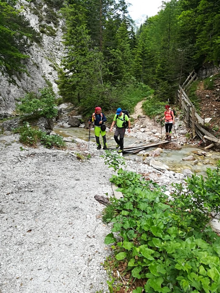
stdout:
POLYGON ((55 94, 50 87, 39 90, 39 93, 27 93, 20 98, 21 104, 16 105, 16 110, 31 117, 54 118, 57 116, 55 94))

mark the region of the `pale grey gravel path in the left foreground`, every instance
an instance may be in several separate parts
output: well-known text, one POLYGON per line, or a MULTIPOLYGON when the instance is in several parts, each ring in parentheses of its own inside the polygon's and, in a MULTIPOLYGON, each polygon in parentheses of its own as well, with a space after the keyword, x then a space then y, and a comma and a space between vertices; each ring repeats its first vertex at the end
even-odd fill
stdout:
POLYGON ((112 196, 112 171, 100 151, 80 162, 73 150, 21 151, 15 140, 0 136, 0 292, 107 292, 110 227, 94 196, 112 196))

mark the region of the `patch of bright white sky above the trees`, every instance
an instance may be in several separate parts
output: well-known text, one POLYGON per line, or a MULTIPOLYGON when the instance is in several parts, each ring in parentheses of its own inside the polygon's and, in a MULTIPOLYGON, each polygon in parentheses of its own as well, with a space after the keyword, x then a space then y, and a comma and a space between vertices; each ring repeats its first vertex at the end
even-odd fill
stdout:
POLYGON ((131 4, 129 7, 129 14, 132 19, 137 19, 142 14, 147 16, 154 16, 160 10, 162 5, 161 0, 127 0, 131 4))

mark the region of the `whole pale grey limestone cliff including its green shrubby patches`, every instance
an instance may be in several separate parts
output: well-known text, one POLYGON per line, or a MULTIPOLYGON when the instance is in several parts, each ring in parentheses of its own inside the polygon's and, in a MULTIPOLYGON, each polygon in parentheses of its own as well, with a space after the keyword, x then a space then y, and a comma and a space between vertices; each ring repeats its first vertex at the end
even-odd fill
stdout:
POLYGON ((0 73, 0 115, 11 113, 15 109, 16 99, 25 93, 52 84, 57 94, 57 70, 63 53, 62 27, 64 22, 59 18, 58 9, 49 7, 44 1, 19 1, 25 17, 31 26, 42 35, 42 41, 31 46, 30 58, 25 61, 28 74, 14 77, 17 86, 9 84, 8 79, 0 73), (50 12, 50 16, 49 13, 50 12), (53 19, 51 20, 51 15, 53 19))

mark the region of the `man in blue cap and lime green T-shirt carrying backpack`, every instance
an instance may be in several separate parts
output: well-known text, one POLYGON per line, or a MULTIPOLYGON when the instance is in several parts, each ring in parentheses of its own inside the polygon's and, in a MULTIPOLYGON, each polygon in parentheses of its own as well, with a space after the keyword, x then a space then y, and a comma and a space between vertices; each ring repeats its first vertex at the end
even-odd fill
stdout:
POLYGON ((128 123, 128 132, 130 132, 130 119, 128 115, 122 112, 121 108, 118 108, 109 131, 112 132, 112 128, 116 124, 114 139, 117 143, 116 148, 120 147, 120 150, 118 151, 119 153, 123 152, 123 149, 124 149, 124 134, 125 134, 125 129, 127 127, 127 123, 128 123))

